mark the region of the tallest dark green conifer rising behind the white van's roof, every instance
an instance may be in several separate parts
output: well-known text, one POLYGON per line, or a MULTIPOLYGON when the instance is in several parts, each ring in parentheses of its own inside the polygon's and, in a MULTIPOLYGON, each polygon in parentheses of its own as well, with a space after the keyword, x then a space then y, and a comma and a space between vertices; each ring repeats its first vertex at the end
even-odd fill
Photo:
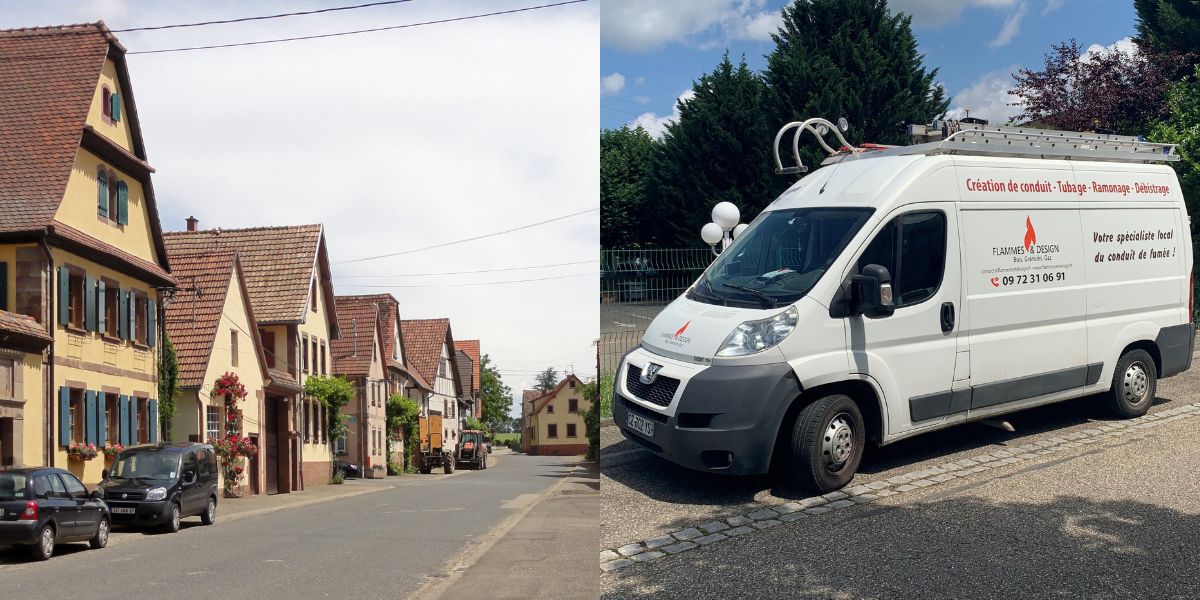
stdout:
MULTIPOLYGON (((930 122, 949 107, 935 83, 937 70, 926 70, 917 52, 911 24, 887 0, 796 0, 785 7, 763 73, 773 126, 845 116, 851 144, 906 143, 906 124, 930 122)), ((800 150, 810 169, 826 157, 815 143, 800 150)))

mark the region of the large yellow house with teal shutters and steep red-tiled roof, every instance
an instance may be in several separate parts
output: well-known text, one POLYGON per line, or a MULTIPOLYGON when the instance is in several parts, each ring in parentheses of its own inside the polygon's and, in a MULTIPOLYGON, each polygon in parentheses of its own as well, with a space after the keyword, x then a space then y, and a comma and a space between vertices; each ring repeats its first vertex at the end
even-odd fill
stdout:
POLYGON ((0 32, 0 54, 53 56, 35 78, 0 65, 0 89, 23 90, 0 103, 13 140, 0 151, 0 310, 53 340, 40 372, 24 360, 24 394, 36 377, 44 400, 23 462, 94 484, 107 461, 74 448, 158 439, 160 296, 174 278, 124 47, 103 24, 31 31, 0 32))

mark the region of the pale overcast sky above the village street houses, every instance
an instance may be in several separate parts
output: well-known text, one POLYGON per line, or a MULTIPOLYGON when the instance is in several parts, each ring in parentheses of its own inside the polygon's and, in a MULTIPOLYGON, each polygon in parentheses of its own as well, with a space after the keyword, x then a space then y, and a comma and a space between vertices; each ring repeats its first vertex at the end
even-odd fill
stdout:
MULTIPOLYGON (((353 2, 0 0, 0 28, 104 19, 120 29, 346 4, 353 2)), ((547 2, 419 0, 120 40, 133 52, 538 4, 547 2)), ((326 40, 130 55, 163 227, 182 229, 190 215, 204 228, 324 223, 336 293, 391 292, 402 318, 449 317, 455 337, 481 340, 517 397, 547 366, 594 372, 595 211, 338 263, 595 209, 599 37, 599 7, 584 2, 326 40), (562 263, 581 264, 422 275, 562 263), (461 286, 515 280, 542 281, 461 286), (400 287, 445 284, 457 287, 400 287)))

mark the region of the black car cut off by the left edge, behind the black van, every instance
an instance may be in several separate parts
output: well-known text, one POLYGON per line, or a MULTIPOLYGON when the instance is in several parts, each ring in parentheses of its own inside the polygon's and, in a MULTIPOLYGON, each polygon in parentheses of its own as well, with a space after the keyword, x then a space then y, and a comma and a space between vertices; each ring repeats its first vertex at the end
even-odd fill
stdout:
POLYGON ((86 541, 102 548, 112 516, 97 496, 54 467, 0 470, 0 544, 30 546, 37 560, 50 558, 55 544, 86 541))

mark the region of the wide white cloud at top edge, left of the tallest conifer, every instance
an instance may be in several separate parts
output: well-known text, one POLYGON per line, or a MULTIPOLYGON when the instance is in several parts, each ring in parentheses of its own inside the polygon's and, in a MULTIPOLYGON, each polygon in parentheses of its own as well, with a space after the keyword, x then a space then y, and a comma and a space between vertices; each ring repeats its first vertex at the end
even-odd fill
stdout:
POLYGON ((780 19, 766 0, 601 0, 600 42, 644 53, 670 43, 769 40, 780 19))

